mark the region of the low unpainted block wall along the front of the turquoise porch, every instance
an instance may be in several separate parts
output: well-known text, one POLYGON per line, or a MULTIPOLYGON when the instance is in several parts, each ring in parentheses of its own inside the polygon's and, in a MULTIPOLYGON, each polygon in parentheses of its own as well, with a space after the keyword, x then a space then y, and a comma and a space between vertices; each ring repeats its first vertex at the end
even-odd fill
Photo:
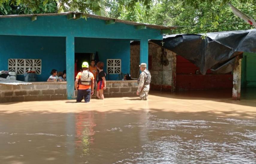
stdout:
MULTIPOLYGON (((0 84, 0 103, 67 99, 66 82, 32 82, 28 85, 0 84)), ((107 81, 104 97, 137 96, 137 81, 107 81)), ((75 92, 76 97, 77 92, 75 92)), ((96 92, 92 98, 96 98, 96 92)))

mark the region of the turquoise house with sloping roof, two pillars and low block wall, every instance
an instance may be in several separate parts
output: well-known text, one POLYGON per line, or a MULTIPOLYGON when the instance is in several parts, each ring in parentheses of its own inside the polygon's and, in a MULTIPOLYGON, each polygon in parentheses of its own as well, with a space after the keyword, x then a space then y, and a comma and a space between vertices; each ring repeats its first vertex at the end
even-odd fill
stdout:
POLYGON ((75 59, 79 69, 82 61, 96 57, 107 72, 107 97, 135 95, 137 81, 120 77, 130 72, 130 42, 140 41, 140 63, 148 63, 148 40, 161 40, 173 28, 77 12, 7 15, 0 20, 0 70, 16 72, 19 81, 28 70, 37 73, 37 82, 31 84, 1 84, 2 102, 72 99, 75 59), (46 82, 52 69, 66 69, 67 81, 46 82))

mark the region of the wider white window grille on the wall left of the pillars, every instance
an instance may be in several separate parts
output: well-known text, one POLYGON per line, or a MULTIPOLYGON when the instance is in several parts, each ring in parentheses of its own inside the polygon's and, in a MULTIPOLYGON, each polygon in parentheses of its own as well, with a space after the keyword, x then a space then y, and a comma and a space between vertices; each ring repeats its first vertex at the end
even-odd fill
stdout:
POLYGON ((41 59, 9 59, 9 72, 16 72, 17 75, 23 75, 28 70, 34 70, 37 74, 41 74, 42 60, 41 59))

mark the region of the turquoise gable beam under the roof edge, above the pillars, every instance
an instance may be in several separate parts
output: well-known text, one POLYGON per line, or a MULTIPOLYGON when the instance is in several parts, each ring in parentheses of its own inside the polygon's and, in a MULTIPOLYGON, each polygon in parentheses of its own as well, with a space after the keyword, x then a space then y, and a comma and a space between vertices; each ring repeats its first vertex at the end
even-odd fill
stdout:
POLYGON ((36 21, 30 17, 0 18, 0 35, 27 36, 74 36, 87 38, 114 39, 158 39, 163 35, 157 29, 136 30, 134 25, 116 22, 105 24, 104 20, 87 18, 70 19, 67 16, 37 16, 36 21))

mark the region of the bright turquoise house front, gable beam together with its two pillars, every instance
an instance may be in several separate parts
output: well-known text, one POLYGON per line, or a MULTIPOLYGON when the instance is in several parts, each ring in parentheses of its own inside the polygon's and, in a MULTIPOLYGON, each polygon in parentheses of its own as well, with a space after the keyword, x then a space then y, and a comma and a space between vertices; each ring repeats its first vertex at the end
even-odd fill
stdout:
MULTIPOLYGON (((106 25, 104 20, 95 18, 68 20, 65 15, 37 16, 36 21, 31 21, 30 17, 0 18, 0 35, 66 37, 68 99, 73 97, 74 91, 74 72, 71 70, 74 70, 75 37, 140 40, 142 42, 140 61, 145 63, 148 62, 148 39, 163 38, 160 30, 157 29, 136 30, 134 25, 118 22, 106 25)), ((34 46, 35 42, 32 42, 30 45, 34 46)))

